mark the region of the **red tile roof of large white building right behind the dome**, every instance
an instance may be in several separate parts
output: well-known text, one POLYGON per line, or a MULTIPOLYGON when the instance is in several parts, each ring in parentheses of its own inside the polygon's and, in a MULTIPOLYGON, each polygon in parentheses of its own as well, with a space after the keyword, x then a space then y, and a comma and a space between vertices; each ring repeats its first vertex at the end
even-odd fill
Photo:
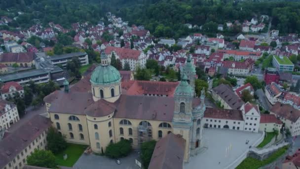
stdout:
POLYGON ((107 46, 105 49, 106 54, 111 54, 112 51, 114 51, 120 57, 120 59, 133 59, 133 60, 138 60, 139 56, 142 53, 139 50, 133 50, 133 49, 122 48, 122 47, 114 47, 114 46, 107 46))

